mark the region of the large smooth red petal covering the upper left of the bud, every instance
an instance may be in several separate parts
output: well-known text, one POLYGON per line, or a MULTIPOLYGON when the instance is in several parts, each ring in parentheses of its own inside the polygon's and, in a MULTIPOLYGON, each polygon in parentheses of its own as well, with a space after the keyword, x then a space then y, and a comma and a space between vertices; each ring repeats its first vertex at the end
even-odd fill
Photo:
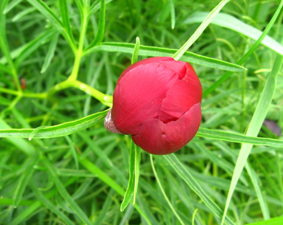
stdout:
POLYGON ((113 94, 112 119, 116 127, 135 135, 145 120, 158 118, 162 100, 178 79, 173 70, 156 62, 128 71, 113 94))

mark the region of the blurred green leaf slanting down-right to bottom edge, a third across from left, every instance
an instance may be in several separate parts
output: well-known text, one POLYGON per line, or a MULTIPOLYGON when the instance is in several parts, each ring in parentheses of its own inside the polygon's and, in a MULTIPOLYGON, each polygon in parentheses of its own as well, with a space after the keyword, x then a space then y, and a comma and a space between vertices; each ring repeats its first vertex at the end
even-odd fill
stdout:
POLYGON ((64 187, 63 183, 57 176, 55 168, 52 166, 52 164, 49 162, 49 160, 41 154, 41 162, 45 165, 48 172, 50 173, 52 180, 54 184, 56 185, 57 191, 60 193, 60 195, 64 198, 66 202, 68 202, 69 207, 75 212, 75 214, 85 223, 88 225, 92 225, 89 218, 85 215, 83 210, 78 206, 78 204, 73 200, 73 198, 70 196, 70 194, 67 192, 66 188, 64 187))

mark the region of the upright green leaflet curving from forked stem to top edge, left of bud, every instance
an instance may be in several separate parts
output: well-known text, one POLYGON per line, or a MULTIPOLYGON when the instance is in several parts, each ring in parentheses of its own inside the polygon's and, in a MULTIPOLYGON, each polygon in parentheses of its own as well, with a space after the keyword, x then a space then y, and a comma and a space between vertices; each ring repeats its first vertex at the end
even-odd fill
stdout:
POLYGON ((100 5, 101 5, 101 7, 100 7, 100 13, 99 13, 99 21, 98 21, 97 32, 96 32, 95 38, 89 44, 89 46, 87 46, 87 48, 85 50, 90 49, 90 48, 94 47, 95 45, 99 44, 103 39, 104 27, 105 27, 106 1, 101 0, 100 5))

